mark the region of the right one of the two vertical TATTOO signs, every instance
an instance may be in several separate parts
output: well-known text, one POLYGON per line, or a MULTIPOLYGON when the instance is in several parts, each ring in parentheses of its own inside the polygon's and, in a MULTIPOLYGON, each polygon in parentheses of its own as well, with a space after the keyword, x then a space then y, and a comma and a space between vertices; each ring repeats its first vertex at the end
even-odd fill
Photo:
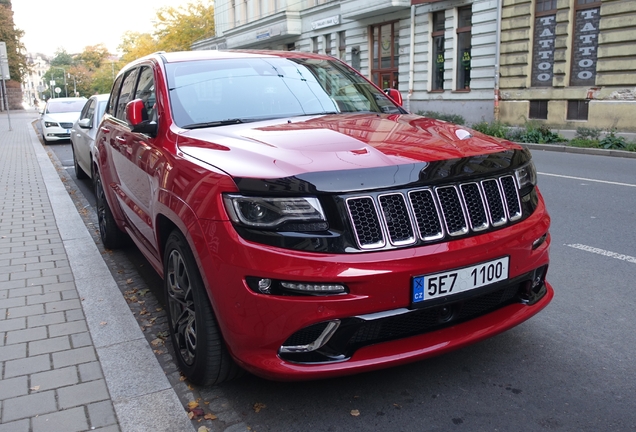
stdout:
POLYGON ((596 84, 596 52, 600 21, 599 8, 576 12, 570 85, 593 86, 596 84))

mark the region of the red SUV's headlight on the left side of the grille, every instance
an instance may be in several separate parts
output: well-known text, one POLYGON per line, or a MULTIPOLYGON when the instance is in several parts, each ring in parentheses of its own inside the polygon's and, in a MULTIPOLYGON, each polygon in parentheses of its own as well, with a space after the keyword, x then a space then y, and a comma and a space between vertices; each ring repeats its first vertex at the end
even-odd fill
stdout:
POLYGON ((224 195, 225 208, 234 223, 248 227, 277 228, 300 224, 297 231, 326 230, 327 219, 318 198, 269 198, 224 195), (304 227, 304 228, 303 228, 304 227))

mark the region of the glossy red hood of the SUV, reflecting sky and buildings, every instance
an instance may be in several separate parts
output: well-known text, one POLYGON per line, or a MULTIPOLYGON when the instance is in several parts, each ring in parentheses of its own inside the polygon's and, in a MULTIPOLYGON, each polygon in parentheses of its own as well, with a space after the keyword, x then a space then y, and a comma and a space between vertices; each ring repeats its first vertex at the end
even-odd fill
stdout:
MULTIPOLYGON (((312 179, 316 184, 321 178, 321 190, 340 191, 432 180, 427 167, 437 167, 434 176, 439 176, 442 165, 442 171, 453 171, 449 161, 501 170, 522 151, 463 126, 403 114, 295 117, 194 129, 181 131, 177 145, 242 182, 241 189, 267 179, 312 179)), ((272 192, 271 185, 265 190, 272 192)))

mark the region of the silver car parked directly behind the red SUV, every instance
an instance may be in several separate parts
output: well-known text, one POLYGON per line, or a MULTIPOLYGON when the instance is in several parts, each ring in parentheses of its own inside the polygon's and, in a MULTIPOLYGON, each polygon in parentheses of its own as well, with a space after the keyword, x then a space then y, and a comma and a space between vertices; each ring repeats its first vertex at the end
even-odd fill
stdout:
POLYGON ((91 96, 71 129, 73 165, 78 179, 93 178, 92 155, 99 122, 108 103, 108 94, 91 96))

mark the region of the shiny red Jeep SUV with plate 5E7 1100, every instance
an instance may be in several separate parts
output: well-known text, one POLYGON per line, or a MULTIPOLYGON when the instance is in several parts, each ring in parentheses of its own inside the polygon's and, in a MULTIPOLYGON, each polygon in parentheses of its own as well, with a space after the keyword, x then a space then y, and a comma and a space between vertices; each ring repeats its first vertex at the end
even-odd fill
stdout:
POLYGON ((94 155, 101 237, 128 233, 162 275, 192 382, 412 362, 550 302, 529 151, 388 93, 297 52, 156 53, 119 73, 94 155))

